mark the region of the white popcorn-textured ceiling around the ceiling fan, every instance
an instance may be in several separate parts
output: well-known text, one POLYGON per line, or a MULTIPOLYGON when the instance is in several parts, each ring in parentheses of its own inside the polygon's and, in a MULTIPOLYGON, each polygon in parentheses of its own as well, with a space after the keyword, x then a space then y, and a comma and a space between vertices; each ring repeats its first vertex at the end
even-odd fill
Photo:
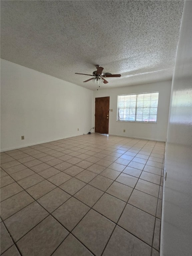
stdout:
POLYGON ((1 58, 96 90, 172 78, 183 1, 1 1, 1 58))

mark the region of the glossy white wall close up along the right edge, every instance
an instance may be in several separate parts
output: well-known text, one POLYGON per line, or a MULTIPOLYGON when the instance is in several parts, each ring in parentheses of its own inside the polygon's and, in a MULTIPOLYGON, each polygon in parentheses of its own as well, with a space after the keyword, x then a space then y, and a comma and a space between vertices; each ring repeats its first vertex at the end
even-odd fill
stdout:
POLYGON ((161 256, 192 255, 192 2, 185 1, 172 83, 161 256))

